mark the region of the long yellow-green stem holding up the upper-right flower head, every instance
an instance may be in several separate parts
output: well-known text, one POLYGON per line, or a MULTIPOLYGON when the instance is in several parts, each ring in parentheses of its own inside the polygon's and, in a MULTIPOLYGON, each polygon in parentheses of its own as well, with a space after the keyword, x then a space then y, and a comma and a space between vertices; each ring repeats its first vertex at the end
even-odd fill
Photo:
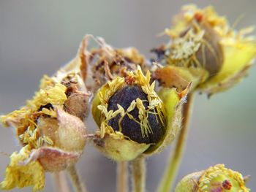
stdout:
POLYGON ((167 163, 165 173, 162 176, 161 182, 158 186, 157 192, 169 192, 173 188, 173 183, 176 179, 179 165, 181 164, 182 155, 187 141, 187 134, 189 130, 189 120, 192 113, 192 102, 194 94, 190 93, 187 96, 187 103, 184 104, 182 110, 182 128, 178 134, 177 143, 173 154, 167 163))

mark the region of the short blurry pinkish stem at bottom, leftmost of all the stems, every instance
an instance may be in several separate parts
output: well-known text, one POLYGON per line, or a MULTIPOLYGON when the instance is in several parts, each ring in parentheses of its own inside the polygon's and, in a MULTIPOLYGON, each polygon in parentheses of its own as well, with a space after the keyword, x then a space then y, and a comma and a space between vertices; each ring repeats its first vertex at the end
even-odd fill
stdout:
POLYGON ((56 192, 70 192, 64 172, 54 172, 53 178, 56 192))

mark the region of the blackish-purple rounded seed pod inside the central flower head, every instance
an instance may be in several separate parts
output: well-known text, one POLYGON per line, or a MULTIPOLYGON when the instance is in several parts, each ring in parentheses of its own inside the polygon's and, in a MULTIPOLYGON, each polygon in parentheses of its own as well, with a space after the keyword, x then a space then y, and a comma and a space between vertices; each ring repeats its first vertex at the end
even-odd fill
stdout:
POLYGON ((154 108, 148 109, 147 97, 140 85, 124 85, 119 88, 108 100, 108 111, 113 110, 115 112, 118 107, 122 107, 128 113, 127 115, 124 114, 124 116, 118 114, 108 120, 108 126, 111 126, 114 131, 120 131, 124 136, 138 143, 150 144, 159 142, 165 134, 163 114, 162 112, 156 114, 154 108), (144 114, 145 117, 143 117, 144 114), (142 125, 143 121, 148 122, 142 125))

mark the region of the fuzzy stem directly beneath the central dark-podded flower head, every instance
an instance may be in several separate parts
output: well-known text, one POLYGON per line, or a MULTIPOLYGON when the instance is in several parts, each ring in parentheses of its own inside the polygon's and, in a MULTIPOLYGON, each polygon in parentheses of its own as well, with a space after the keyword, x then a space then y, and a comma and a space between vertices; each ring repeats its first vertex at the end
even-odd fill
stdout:
POLYGON ((132 161, 132 191, 144 192, 146 185, 146 161, 143 155, 132 161))

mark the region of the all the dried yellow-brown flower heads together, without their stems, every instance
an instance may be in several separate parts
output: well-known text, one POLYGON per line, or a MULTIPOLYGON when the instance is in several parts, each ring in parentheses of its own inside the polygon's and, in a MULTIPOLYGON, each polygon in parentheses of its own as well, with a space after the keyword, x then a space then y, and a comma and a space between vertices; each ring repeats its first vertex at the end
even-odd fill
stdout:
MULTIPOLYGON (((246 75, 256 56, 249 32, 233 31, 212 7, 184 7, 165 30, 170 42, 153 50, 154 64, 135 48, 115 49, 100 38, 99 47, 89 50, 94 38, 86 36, 78 55, 53 77, 44 76, 25 107, 1 116, 22 148, 10 156, 0 188, 42 190, 45 172, 74 166, 88 139, 115 161, 159 153, 181 128, 188 93, 211 96, 246 75), (99 127, 93 134, 84 123, 88 104, 99 127)), ((189 174, 176 191, 210 189, 249 191, 241 174, 223 165, 189 174)))

